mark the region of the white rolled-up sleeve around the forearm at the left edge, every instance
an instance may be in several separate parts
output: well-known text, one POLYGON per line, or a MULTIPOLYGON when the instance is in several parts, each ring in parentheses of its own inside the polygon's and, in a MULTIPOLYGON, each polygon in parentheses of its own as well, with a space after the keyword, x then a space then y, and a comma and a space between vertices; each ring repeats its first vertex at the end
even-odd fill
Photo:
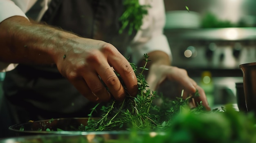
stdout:
MULTIPOLYGON (((11 0, 0 0, 0 22, 12 16, 23 16, 25 13, 11 0)), ((0 49, 1 51, 1 49, 0 49)), ((0 62, 0 72, 13 70, 18 64, 0 62)))

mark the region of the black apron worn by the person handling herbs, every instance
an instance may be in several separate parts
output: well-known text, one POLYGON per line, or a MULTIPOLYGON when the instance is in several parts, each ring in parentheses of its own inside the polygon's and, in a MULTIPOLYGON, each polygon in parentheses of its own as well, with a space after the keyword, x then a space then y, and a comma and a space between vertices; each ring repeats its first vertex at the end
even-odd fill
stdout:
MULTIPOLYGON (((123 0, 52 0, 42 22, 81 37, 109 42, 124 53, 136 32, 128 35, 126 29, 119 34, 119 17, 124 12, 122 4, 123 0)), ((28 17, 29 13, 33 16, 34 9, 28 11, 28 17)), ((4 112, 10 113, 7 120, 11 123, 7 124, 61 117, 86 117, 95 105, 88 102, 63 78, 55 65, 19 64, 6 73, 3 88, 7 107, 4 112)))

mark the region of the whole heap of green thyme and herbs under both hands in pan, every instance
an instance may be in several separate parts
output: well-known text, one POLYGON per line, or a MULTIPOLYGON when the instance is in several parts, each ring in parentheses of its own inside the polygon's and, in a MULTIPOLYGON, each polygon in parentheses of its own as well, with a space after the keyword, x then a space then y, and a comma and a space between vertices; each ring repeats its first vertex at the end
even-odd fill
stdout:
MULTIPOLYGON (((144 70, 148 63, 148 55, 144 54, 145 65, 141 67, 141 73, 137 72, 135 64, 131 64, 137 80, 138 80, 138 92, 136 97, 132 97, 127 93, 126 98, 123 101, 116 101, 113 99, 107 105, 101 106, 101 110, 96 110, 101 104, 97 104, 89 114, 88 125, 81 127, 85 131, 104 131, 104 130, 158 130, 164 129, 170 125, 171 119, 183 109, 189 109, 187 107, 188 102, 193 97, 182 98, 177 100, 164 99, 164 103, 161 106, 156 106, 153 103, 153 99, 159 97, 155 91, 148 89, 147 82, 144 78, 144 70), (100 119, 94 119, 92 117, 93 112, 100 112, 102 114, 100 119)), ((116 73, 121 83, 124 83, 120 75, 116 73)), ((125 84, 123 84, 124 86, 125 84)), ((126 87, 124 86, 124 89, 126 87)), ((161 97, 164 98, 164 97, 161 97)), ((191 110, 191 112, 201 112, 203 107, 202 103, 197 103, 198 106, 191 110)), ((190 110, 190 109, 189 109, 190 110)))

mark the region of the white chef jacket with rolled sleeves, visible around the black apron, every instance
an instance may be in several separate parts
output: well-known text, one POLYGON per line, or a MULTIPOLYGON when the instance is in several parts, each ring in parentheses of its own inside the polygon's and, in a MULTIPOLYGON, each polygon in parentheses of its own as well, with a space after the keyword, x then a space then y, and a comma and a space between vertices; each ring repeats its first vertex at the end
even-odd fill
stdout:
MULTIPOLYGON (((23 16, 34 6, 37 0, 0 0, 0 22, 11 16, 23 16)), ((40 21, 48 9, 50 0, 40 0, 42 9, 38 11, 36 21, 40 21)), ((132 62, 137 63, 143 58, 144 53, 163 51, 171 57, 171 50, 166 36, 163 34, 165 25, 165 9, 163 0, 139 0, 140 4, 150 4, 148 15, 144 16, 143 24, 134 39, 130 51, 132 62)), ((1 49, 0 49, 1 51, 1 49)), ((0 72, 14 69, 18 64, 0 62, 0 72)))

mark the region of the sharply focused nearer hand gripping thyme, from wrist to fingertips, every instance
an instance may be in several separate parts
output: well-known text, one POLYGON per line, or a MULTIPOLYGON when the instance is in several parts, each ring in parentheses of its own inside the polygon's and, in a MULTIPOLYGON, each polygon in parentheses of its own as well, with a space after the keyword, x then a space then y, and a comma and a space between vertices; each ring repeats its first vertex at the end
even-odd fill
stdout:
POLYGON ((73 37, 70 41, 56 56, 56 65, 86 98, 96 102, 109 101, 111 93, 116 100, 124 99, 125 90, 113 69, 121 75, 130 95, 137 94, 136 75, 127 59, 113 45, 81 37, 73 37))

